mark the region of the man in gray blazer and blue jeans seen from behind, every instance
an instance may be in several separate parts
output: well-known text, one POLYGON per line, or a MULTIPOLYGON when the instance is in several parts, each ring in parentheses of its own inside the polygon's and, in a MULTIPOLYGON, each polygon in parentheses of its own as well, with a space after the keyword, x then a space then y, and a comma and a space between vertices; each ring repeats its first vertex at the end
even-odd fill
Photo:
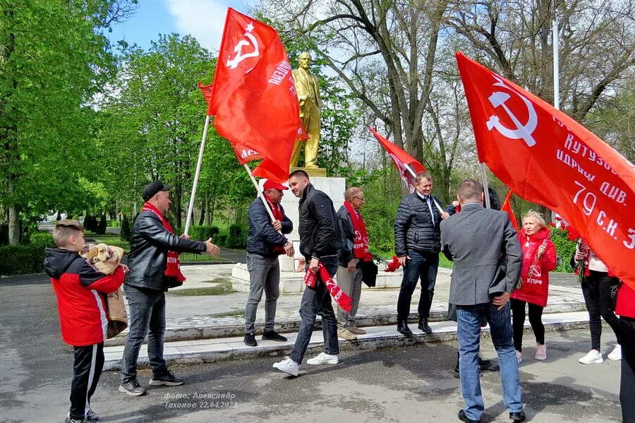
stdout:
POLYGON ((477 353, 480 326, 486 318, 500 364, 504 404, 509 418, 522 422, 526 417, 509 312, 509 294, 521 271, 521 247, 507 213, 483 208, 483 186, 478 181, 461 182, 458 197, 461 213, 441 222, 441 248, 454 261, 449 302, 456 304, 461 391, 466 402, 459 419, 480 422, 483 415, 477 353))

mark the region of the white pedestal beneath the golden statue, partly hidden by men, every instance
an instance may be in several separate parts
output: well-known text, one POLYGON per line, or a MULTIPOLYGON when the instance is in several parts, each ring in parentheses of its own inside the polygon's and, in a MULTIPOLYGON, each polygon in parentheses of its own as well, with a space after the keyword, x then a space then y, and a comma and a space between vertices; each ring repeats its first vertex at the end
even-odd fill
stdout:
MULTIPOLYGON (((326 173, 326 169, 320 168, 298 168, 305 172, 323 171, 326 173)), ((293 171, 293 169, 291 169, 293 171)), ((346 179, 344 178, 327 178, 327 177, 313 177, 309 173, 310 182, 315 189, 324 191, 327 196, 333 201, 333 207, 335 211, 339 210, 341 205, 344 204, 344 191, 346 191, 346 179)), ((260 185, 262 186, 263 180, 260 179, 260 185)), ((304 290, 304 273, 296 273, 296 267, 298 266, 298 258, 300 254, 300 235, 298 234, 298 218, 299 210, 298 203, 300 199, 291 193, 291 190, 284 191, 282 197, 282 207, 284 208, 284 214, 286 214, 291 222, 294 223, 294 230, 291 234, 286 234, 285 237, 294 244, 296 254, 294 258, 288 256, 279 256, 280 261, 280 292, 302 292, 304 290), (285 287, 289 284, 289 287, 285 287)), ((246 265, 236 264, 231 270, 231 276, 239 280, 246 280, 249 282, 249 273, 247 272, 246 265)), ((377 284, 379 285, 379 284, 377 284)), ((248 285, 247 285, 248 286, 248 285)))

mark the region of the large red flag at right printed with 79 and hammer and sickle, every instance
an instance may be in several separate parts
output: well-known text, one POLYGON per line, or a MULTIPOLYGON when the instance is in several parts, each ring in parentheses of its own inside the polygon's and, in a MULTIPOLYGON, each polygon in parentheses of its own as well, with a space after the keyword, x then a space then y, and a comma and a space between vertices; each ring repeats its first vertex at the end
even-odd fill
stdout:
POLYGON ((635 288, 634 165, 518 85, 461 53, 456 61, 480 162, 518 196, 562 215, 635 288))

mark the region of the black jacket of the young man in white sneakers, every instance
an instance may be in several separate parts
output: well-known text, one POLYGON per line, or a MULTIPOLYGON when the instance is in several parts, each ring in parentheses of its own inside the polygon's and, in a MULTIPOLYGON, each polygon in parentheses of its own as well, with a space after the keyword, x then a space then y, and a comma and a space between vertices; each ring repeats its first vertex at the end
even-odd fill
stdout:
POLYGON ((308 184, 300 198, 299 210, 301 254, 318 259, 337 255, 341 234, 331 198, 308 184))

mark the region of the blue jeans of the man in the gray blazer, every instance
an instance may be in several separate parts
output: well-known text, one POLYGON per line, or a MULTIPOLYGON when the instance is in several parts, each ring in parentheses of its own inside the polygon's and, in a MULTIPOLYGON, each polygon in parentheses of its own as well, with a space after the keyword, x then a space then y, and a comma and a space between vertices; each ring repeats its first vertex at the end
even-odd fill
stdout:
POLYGON ((480 391, 478 353, 480 343, 480 323, 486 314, 490 323, 490 335, 498 355, 503 403, 509 412, 523 410, 522 390, 518 373, 518 362, 512 340, 512 320, 509 302, 502 310, 491 304, 456 306, 457 329, 459 335, 459 371, 461 391, 465 400, 464 412, 469 419, 480 420, 485 410, 483 394, 480 391))

